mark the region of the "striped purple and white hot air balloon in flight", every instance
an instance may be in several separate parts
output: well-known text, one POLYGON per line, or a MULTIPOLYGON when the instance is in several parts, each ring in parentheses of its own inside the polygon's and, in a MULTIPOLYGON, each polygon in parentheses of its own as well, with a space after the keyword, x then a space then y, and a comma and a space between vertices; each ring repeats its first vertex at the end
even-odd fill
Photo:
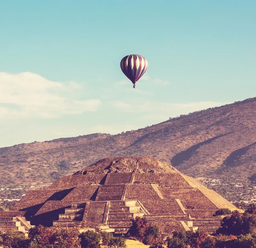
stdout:
POLYGON ((131 54, 122 58, 120 67, 125 76, 134 84, 134 88, 136 88, 136 82, 148 68, 148 61, 141 55, 131 54))

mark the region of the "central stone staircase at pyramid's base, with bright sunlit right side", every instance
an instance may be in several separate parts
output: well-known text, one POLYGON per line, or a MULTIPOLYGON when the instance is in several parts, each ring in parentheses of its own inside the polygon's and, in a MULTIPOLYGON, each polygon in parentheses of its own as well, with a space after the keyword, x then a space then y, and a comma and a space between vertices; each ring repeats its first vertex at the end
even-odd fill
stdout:
POLYGON ((145 212, 137 201, 111 201, 107 224, 115 229, 115 234, 126 234, 136 216, 143 217, 145 212))

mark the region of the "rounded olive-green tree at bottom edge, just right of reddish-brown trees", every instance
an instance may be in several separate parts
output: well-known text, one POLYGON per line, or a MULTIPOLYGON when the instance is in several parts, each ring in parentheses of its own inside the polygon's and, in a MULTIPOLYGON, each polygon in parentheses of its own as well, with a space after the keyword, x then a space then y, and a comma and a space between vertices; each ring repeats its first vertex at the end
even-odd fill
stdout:
POLYGON ((95 231, 82 232, 79 237, 81 238, 81 248, 100 248, 101 236, 95 231))

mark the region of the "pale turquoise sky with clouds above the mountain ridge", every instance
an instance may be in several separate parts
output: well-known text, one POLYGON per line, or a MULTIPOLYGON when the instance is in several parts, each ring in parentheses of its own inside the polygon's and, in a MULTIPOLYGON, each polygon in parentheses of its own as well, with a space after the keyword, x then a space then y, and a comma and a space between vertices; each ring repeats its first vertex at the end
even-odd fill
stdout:
POLYGON ((255 0, 0 1, 0 147, 256 96, 255 0), (119 63, 148 60, 133 89, 119 63))

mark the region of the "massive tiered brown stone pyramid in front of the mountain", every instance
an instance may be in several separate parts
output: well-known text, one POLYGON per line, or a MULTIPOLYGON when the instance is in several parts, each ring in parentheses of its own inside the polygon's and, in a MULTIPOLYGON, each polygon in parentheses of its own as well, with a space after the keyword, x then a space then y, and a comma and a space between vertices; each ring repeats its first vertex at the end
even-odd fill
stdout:
POLYGON ((214 190, 163 161, 145 157, 102 159, 45 190, 31 190, 15 205, 13 217, 31 225, 53 227, 104 226, 127 233, 132 219, 145 216, 168 235, 172 231, 211 233, 221 208, 237 210, 214 190))

